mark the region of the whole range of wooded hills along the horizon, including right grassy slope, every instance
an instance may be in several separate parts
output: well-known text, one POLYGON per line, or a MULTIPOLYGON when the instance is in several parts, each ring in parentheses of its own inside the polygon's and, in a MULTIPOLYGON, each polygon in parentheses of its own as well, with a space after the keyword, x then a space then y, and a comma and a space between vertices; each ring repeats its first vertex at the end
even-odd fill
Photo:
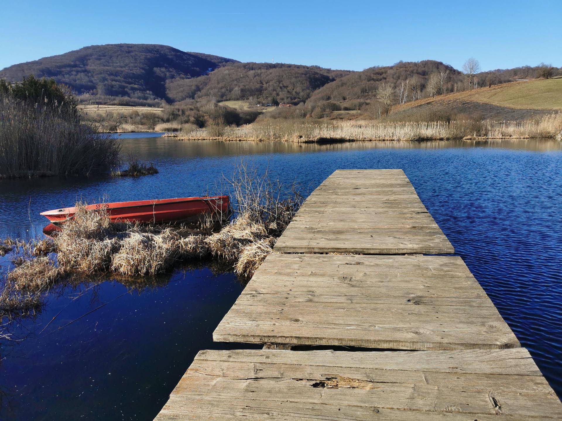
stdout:
MULTIPOLYGON (((554 75, 560 74, 561 70, 553 69, 554 75)), ((521 77, 531 79, 539 71, 540 66, 523 66, 481 72, 477 77, 482 86, 521 77)), ((158 44, 91 45, 0 70, 0 78, 9 81, 21 80, 26 75, 52 77, 69 85, 83 103, 160 106, 163 101, 211 99, 225 105, 243 102, 253 108, 256 104, 306 102, 310 111, 307 115, 312 115, 313 109, 325 108, 333 111, 332 115, 342 114, 338 118, 356 118, 365 106, 374 109, 377 90, 383 83, 393 90, 394 104, 407 91, 408 102, 394 107, 405 118, 414 112, 408 109, 425 112, 443 108, 443 104, 456 113, 520 118, 559 109, 562 98, 562 79, 513 82, 464 91, 466 77, 434 60, 401 61, 356 72, 283 63, 241 63, 158 44), (427 98, 435 92, 429 88, 431 75, 439 72, 447 72, 445 91, 456 93, 427 98), (413 98, 417 100, 411 102, 413 98)))

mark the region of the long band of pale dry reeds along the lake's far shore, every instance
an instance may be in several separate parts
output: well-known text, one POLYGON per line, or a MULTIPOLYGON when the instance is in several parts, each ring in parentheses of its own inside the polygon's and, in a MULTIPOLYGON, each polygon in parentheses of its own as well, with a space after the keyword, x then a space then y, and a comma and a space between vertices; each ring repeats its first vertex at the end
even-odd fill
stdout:
POLYGON ((182 133, 182 140, 280 140, 293 142, 355 140, 449 140, 554 138, 562 130, 562 113, 524 121, 375 122, 352 120, 310 122, 276 120, 216 130, 182 133))

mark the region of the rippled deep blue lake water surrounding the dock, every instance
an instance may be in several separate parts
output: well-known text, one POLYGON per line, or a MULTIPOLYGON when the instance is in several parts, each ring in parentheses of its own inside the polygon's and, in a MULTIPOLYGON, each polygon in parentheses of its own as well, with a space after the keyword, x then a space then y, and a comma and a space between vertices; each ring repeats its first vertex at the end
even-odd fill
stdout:
MULTIPOLYGON (((310 191, 339 168, 402 168, 445 235, 562 394, 562 143, 553 140, 312 145, 128 135, 160 170, 138 179, 0 181, 0 236, 40 235, 39 212, 212 193, 242 158, 310 191)), ((150 135, 153 136, 153 135, 150 135)), ((7 259, 0 260, 4 265, 7 259)), ((243 285, 206 267, 156 285, 116 281, 53 291, 0 349, 2 420, 151 420, 243 285)))

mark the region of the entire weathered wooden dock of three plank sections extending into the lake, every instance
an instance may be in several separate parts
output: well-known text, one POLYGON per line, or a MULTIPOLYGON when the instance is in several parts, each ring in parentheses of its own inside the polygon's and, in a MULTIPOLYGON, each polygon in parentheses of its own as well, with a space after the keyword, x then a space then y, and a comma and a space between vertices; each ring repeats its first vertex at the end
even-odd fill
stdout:
POLYGON ((157 420, 562 419, 401 170, 334 172, 274 250, 213 335, 264 350, 201 351, 157 420))

